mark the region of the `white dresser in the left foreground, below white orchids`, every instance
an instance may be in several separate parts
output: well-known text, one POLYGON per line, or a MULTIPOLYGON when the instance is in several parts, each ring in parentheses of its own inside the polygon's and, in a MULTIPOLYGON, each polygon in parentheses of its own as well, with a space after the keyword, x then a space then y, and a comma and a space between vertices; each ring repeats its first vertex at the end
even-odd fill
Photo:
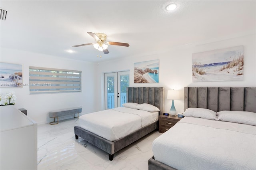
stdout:
POLYGON ((0 107, 0 169, 37 169, 37 123, 14 106, 0 107))

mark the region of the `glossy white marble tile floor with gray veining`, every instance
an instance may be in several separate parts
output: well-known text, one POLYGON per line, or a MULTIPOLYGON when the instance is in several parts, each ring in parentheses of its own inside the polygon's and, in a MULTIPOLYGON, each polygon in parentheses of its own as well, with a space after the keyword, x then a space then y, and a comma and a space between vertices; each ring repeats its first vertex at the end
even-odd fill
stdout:
POLYGON ((38 125, 38 170, 147 170, 152 142, 162 134, 151 132, 116 152, 110 161, 108 153, 80 137, 75 139, 78 121, 72 118, 57 125, 38 125))

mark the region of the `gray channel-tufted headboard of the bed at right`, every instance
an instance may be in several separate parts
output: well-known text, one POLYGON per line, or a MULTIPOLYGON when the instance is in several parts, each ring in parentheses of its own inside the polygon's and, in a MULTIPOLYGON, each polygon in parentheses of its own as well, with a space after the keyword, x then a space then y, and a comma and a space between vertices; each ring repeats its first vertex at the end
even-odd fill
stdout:
POLYGON ((256 87, 184 87, 184 111, 189 107, 256 113, 256 87))

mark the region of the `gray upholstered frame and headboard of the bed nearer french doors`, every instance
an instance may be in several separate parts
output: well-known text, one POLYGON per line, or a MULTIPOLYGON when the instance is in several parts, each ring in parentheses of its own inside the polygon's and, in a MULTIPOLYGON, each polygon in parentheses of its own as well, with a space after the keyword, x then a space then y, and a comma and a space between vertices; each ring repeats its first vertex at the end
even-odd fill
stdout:
MULTIPOLYGON (((154 105, 160 109, 160 113, 163 113, 164 108, 164 87, 127 87, 127 102, 133 103, 148 103, 154 105)), ((146 134, 158 129, 158 121, 143 127, 132 134, 124 136, 118 140, 110 141, 97 134, 94 134, 79 126, 74 127, 75 138, 78 136, 84 140, 90 142, 94 146, 104 150, 108 153, 109 160, 114 159, 114 153, 142 138, 146 134)))

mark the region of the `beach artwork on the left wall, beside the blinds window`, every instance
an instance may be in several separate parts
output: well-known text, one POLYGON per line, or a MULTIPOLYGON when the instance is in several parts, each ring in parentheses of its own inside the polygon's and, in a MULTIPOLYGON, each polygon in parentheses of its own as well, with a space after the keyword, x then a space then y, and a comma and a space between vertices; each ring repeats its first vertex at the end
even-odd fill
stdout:
POLYGON ((22 87, 22 65, 1 62, 0 87, 22 87))

